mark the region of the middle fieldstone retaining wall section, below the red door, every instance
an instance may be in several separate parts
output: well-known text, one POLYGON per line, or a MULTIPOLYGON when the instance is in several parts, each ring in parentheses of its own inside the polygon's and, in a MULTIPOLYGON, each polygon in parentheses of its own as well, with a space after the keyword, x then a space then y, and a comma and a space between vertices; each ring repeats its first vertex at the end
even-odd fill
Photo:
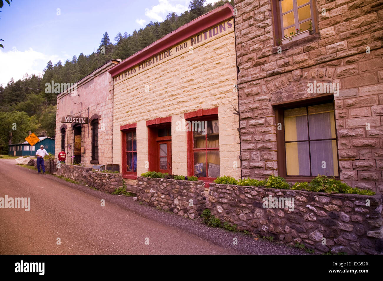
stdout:
POLYGON ((137 177, 137 200, 145 205, 194 219, 206 207, 205 183, 201 180, 137 177))

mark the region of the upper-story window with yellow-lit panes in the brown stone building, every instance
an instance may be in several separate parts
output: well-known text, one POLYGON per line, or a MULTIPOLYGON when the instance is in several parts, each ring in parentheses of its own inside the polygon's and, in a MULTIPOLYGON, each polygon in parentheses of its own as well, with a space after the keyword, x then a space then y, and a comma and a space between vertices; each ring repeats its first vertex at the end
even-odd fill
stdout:
POLYGON ((278 0, 282 39, 296 33, 314 32, 313 0, 278 0))

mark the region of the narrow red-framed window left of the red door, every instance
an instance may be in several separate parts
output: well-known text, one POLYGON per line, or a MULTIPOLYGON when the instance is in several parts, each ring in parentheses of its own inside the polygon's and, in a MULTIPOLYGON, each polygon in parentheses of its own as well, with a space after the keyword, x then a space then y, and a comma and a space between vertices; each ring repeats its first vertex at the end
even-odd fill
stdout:
POLYGON ((136 123, 120 126, 122 134, 121 172, 124 178, 137 178, 137 133, 136 123))

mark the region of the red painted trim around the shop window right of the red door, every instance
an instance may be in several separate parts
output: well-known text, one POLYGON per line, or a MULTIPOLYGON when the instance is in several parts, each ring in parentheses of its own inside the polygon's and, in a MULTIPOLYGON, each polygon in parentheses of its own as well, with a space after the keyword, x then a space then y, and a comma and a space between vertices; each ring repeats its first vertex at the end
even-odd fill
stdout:
MULTIPOLYGON (((197 111, 184 114, 185 120, 214 120, 218 119, 218 107, 211 109, 198 109, 197 111)), ((215 150, 217 151, 217 150, 215 150)), ((218 149, 219 151, 219 149, 218 149)), ((187 132, 187 160, 188 160, 188 176, 194 175, 194 157, 193 157, 193 132, 187 132)), ((207 167, 206 167, 207 168, 207 167)), ((209 188, 209 184, 216 178, 214 177, 199 177, 199 180, 205 182, 205 188, 209 188)))

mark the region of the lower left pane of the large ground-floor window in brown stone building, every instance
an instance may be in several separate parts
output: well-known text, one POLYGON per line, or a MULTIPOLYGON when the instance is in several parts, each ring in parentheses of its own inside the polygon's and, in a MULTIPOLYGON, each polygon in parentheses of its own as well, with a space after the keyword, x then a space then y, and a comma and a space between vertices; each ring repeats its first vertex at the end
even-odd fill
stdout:
POLYGON ((286 143, 287 175, 310 175, 309 143, 286 143))

